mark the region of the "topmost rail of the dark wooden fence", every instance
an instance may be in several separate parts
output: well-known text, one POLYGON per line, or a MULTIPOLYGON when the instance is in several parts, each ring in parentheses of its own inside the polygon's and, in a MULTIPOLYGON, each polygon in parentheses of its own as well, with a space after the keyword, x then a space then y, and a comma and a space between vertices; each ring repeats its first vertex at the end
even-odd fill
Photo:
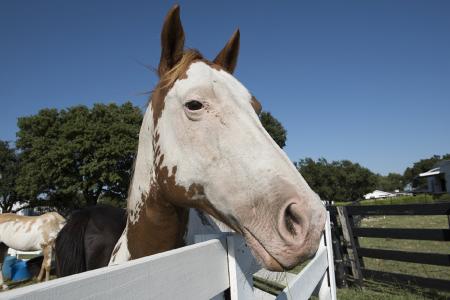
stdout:
POLYGON ((403 205, 358 205, 346 206, 349 215, 450 215, 450 202, 403 205))

